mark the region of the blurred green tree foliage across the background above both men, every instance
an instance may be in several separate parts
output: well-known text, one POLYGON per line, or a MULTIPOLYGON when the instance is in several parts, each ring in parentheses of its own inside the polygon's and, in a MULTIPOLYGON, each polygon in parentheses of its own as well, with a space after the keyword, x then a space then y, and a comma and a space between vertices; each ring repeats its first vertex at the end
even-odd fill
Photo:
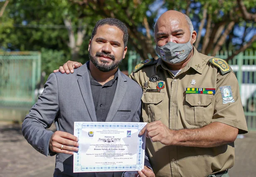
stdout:
MULTIPOLYGON (((249 12, 255 13, 256 0, 243 2, 249 12)), ((0 2, 0 7, 3 4, 4 2, 0 2)), ((156 18, 166 9, 185 13, 188 7, 189 17, 193 19, 196 31, 203 18, 204 7, 207 8, 207 14, 212 16, 212 26, 233 17, 240 17, 236 19, 236 26, 256 26, 241 17, 234 0, 191 0, 190 4, 188 0, 11 0, 0 18, 0 47, 1 50, 41 51, 42 68, 49 74, 64 61, 71 60, 68 30, 63 19, 71 21, 75 34, 80 23, 86 26, 87 32, 79 51, 79 61, 85 63, 88 60, 90 33, 99 19, 115 17, 123 21, 129 28, 128 50, 143 50, 142 40, 138 36, 146 36, 145 17, 152 35, 156 18)), ((151 41, 154 44, 153 36, 151 41)), ((227 46, 234 47, 231 44, 227 46)), ((254 43, 253 47, 255 46, 254 43)), ((123 60, 120 68, 127 69, 127 58, 123 60)))

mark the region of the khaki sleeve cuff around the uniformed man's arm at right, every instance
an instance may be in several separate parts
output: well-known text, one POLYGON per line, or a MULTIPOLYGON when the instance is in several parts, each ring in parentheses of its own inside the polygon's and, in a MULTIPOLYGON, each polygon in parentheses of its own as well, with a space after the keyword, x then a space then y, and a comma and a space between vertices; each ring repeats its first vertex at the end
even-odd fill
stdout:
POLYGON ((220 122, 220 123, 224 123, 224 124, 230 125, 232 127, 235 127, 238 129, 238 134, 248 133, 248 129, 247 129, 246 125, 235 122, 234 120, 230 120, 228 118, 212 119, 212 122, 220 122))

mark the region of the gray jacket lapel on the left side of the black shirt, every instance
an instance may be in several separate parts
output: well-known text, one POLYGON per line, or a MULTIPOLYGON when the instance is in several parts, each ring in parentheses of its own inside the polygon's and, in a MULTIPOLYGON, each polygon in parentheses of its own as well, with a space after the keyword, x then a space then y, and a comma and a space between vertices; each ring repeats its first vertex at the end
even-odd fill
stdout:
POLYGON ((78 69, 79 71, 77 75, 80 77, 78 78, 77 82, 80 87, 81 94, 83 96, 83 101, 85 102, 90 118, 92 119, 93 122, 97 122, 87 65, 84 64, 78 69))

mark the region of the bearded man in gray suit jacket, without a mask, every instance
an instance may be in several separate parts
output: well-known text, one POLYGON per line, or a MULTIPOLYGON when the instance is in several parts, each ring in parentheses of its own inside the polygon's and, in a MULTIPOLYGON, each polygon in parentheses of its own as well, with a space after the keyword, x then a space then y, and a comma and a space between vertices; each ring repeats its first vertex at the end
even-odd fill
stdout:
MULTIPOLYGON (((25 117, 22 133, 29 144, 45 156, 56 155, 54 177, 122 176, 123 172, 73 173, 72 155, 79 145, 73 125, 75 121, 139 122, 141 87, 118 69, 127 40, 127 27, 121 21, 98 21, 88 47, 90 61, 72 75, 51 73, 25 117), (46 130, 53 122, 57 131, 46 130)), ((150 166, 147 158, 145 165, 150 166)), ((146 166, 139 176, 154 177, 146 166)))

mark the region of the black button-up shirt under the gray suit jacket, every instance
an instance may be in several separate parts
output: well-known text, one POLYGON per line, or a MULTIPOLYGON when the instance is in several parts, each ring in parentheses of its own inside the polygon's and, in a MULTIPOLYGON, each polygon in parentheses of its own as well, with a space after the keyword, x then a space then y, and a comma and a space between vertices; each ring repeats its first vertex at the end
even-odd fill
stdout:
MULTIPOLYGON (((93 102, 98 122, 105 122, 110 106, 114 99, 117 87, 118 72, 115 73, 114 79, 104 85, 98 83, 90 74, 89 64, 87 65, 90 76, 90 85, 93 94, 93 102)), ((117 70, 118 71, 118 70, 117 70)))

